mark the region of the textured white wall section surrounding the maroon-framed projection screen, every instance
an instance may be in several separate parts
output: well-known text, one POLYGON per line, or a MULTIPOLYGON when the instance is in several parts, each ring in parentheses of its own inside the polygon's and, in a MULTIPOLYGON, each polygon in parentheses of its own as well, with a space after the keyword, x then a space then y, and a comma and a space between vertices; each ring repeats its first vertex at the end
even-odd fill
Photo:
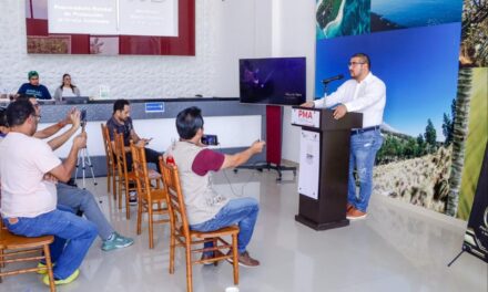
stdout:
POLYGON ((103 84, 110 86, 111 97, 213 96, 220 40, 211 29, 222 1, 197 0, 195 4, 195 56, 34 55, 26 49, 24 0, 1 0, 0 88, 16 92, 27 82, 27 73, 35 70, 51 92, 69 72, 83 95, 98 95, 103 84))

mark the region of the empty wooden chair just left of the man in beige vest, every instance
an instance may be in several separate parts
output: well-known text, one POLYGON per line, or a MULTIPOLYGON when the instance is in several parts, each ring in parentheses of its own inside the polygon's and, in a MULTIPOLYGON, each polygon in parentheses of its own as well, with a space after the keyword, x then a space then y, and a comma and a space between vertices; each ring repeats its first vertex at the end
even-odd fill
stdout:
POLYGON ((131 153, 133 163, 133 173, 135 174, 135 185, 138 187, 138 234, 141 234, 142 213, 148 212, 149 220, 149 248, 154 248, 153 225, 166 223, 170 219, 154 220, 154 215, 169 215, 166 204, 166 192, 161 184, 156 184, 155 187, 151 186, 151 180, 156 179, 162 181, 161 175, 148 169, 148 163, 145 160, 144 147, 135 146, 131 142, 131 153), (155 176, 154 173, 157 175, 155 176))

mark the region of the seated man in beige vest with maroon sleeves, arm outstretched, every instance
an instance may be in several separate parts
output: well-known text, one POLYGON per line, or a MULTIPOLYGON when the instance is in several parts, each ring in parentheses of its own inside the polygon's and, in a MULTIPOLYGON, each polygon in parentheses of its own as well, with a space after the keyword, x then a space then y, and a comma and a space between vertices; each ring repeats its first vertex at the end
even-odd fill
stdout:
MULTIPOLYGON (((210 171, 246 163, 263 150, 265 143, 255 142, 246 150, 234 155, 204 148, 201 143, 203 117, 195 106, 177 114, 176 129, 180 140, 167 149, 165 156, 172 156, 179 167, 190 228, 206 232, 238 225, 238 263, 244 267, 258 265, 260 262, 251 258, 246 250, 257 219, 257 201, 253 198, 227 199, 221 196, 212 188, 210 171)), ((212 247, 212 242, 205 242, 204 247, 212 247)), ((210 257, 211 253, 202 254, 202 259, 210 257)))

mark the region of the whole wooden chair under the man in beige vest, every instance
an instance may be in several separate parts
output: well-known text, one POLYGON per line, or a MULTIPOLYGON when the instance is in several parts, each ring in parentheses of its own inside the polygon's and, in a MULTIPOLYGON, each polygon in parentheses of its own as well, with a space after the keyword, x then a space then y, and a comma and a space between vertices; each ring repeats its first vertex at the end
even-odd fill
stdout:
POLYGON ((186 258, 186 288, 189 292, 193 291, 192 265, 194 263, 214 263, 221 260, 233 260, 234 284, 238 284, 238 255, 237 255, 237 234, 238 227, 231 226, 211 232, 200 232, 191 230, 186 219, 186 209, 184 205, 183 192, 180 184, 177 167, 170 165, 160 157, 160 168, 163 175, 163 186, 167 194, 170 220, 171 220, 171 246, 170 246, 170 273, 174 273, 174 249, 183 247, 186 258), (232 244, 222 237, 231 236, 232 244), (193 249, 194 244, 201 244, 212 241, 213 248, 193 249), (221 250, 232 249, 232 253, 223 253, 221 250), (192 260, 192 253, 213 251, 214 257, 204 260, 192 260))

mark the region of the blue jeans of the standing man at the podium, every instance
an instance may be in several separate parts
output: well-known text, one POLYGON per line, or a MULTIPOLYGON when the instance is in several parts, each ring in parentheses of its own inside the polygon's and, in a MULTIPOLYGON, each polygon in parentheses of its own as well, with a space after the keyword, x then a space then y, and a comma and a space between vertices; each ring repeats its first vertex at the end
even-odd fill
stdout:
POLYGON ((366 212, 373 190, 373 167, 376 153, 382 147, 383 136, 379 129, 350 136, 349 180, 347 201, 359 211, 366 212), (359 180, 359 196, 356 194, 354 169, 359 180))

